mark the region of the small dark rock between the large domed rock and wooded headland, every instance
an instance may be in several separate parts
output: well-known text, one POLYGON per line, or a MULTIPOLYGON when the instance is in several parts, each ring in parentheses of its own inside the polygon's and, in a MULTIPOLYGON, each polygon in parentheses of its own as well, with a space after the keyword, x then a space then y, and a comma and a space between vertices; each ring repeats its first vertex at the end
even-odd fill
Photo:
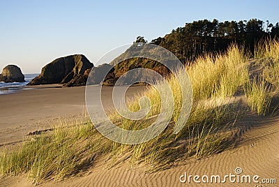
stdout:
POLYGON ((98 67, 92 68, 88 82, 89 84, 100 84, 112 77, 114 77, 114 67, 110 64, 103 63, 98 67))

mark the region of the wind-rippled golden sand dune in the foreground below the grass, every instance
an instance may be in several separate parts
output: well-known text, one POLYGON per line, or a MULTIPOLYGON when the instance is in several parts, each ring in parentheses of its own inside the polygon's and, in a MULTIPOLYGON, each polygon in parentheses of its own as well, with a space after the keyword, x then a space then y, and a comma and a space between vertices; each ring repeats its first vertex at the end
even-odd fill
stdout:
MULTIPOLYGON (((235 148, 202 160, 187 160, 169 170, 146 174, 144 165, 130 167, 121 163, 109 168, 103 160, 98 160, 91 170, 80 177, 65 181, 49 181, 40 186, 219 186, 218 184, 195 184, 193 179, 188 184, 181 183, 179 177, 187 172, 192 175, 220 175, 235 173, 241 167, 245 175, 259 175, 261 179, 276 179, 277 184, 241 184, 228 180, 220 186, 278 186, 279 176, 279 118, 248 117, 238 122, 235 129, 239 137, 235 148)), ((239 176, 241 176, 239 174, 239 176)), ((183 178, 182 178, 183 179, 183 178)), ((1 186, 33 186, 22 177, 4 177, 1 186)))

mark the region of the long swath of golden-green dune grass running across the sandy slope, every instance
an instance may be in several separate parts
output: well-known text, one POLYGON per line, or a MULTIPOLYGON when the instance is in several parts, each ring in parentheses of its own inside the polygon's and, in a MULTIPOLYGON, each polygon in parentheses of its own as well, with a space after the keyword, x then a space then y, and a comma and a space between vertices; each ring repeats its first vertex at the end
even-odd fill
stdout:
MULTIPOLYGON (((187 71, 194 103, 186 125, 178 134, 173 133, 173 128, 181 113, 181 89, 176 78, 170 75, 167 82, 174 96, 174 114, 169 126, 153 140, 135 145, 119 144, 100 135, 90 121, 76 126, 56 124, 53 131, 36 135, 32 141, 25 141, 17 148, 2 151, 1 175, 26 174, 36 183, 45 179, 60 180, 88 170, 93 162, 104 157, 111 167, 125 161, 133 166, 149 165, 150 172, 164 170, 175 162, 211 156, 232 145, 226 130, 241 117, 243 109, 222 100, 234 96, 239 89, 246 91, 252 110, 257 110, 258 114, 268 111, 269 89, 264 83, 250 82, 248 56, 241 47, 232 45, 225 54, 199 57, 187 71), (209 99, 213 102, 209 103, 209 99)), ((130 110, 140 109, 138 101, 142 96, 151 102, 150 112, 144 119, 132 121, 112 114, 112 121, 129 130, 149 126, 160 113, 161 99, 158 91, 149 87, 128 100, 130 110)), ((147 106, 148 102, 142 104, 147 106)))

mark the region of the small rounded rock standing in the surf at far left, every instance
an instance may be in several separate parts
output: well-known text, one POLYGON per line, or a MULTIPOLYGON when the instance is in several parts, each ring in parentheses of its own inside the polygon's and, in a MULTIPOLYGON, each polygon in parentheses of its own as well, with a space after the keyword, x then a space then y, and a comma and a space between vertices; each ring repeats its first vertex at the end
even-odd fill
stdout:
POLYGON ((3 68, 0 74, 0 82, 25 82, 22 70, 15 65, 8 65, 3 68))

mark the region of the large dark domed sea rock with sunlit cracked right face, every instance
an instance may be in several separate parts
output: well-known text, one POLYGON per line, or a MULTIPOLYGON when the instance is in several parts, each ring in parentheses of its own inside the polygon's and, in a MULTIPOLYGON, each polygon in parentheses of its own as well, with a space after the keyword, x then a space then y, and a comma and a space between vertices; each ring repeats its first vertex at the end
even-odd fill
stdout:
POLYGON ((68 84, 85 85, 87 77, 84 73, 92 67, 93 63, 82 54, 61 57, 44 66, 40 75, 29 82, 29 85, 57 83, 66 87, 68 84))

